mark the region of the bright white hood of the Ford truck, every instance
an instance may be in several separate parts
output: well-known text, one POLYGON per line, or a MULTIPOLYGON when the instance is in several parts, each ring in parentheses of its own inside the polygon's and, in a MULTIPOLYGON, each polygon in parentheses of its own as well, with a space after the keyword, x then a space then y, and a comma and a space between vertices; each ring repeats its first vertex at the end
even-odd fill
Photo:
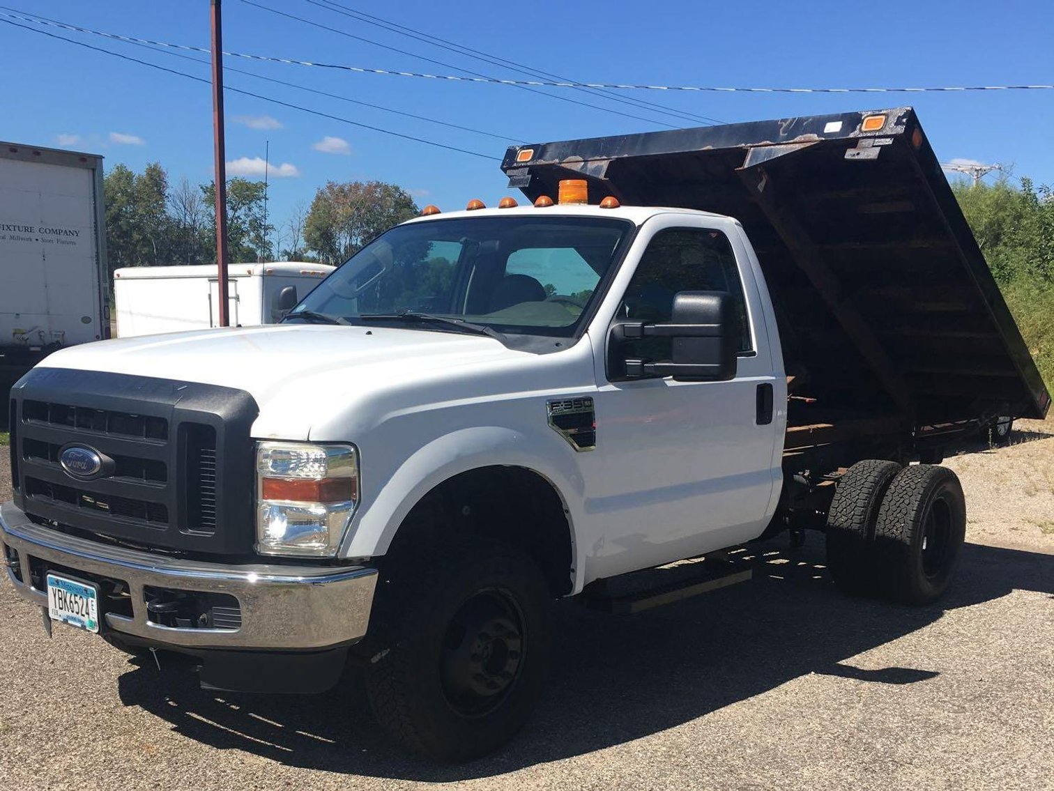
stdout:
POLYGON ((521 368, 532 358, 483 336, 285 324, 105 340, 56 352, 40 364, 245 390, 260 408, 256 436, 295 439, 308 437, 327 406, 449 378, 455 369, 521 368))

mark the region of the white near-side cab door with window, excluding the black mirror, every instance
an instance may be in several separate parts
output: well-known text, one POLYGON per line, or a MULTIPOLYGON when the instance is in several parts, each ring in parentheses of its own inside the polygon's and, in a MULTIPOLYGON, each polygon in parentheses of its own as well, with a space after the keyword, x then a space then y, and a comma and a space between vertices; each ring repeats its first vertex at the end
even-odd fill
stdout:
MULTIPOLYGON (((755 538, 779 494, 785 410, 778 399, 785 398, 785 382, 782 362, 774 364, 770 354, 764 285, 738 226, 702 217, 692 225, 694 219, 665 215, 645 225, 642 236, 651 234, 638 240, 646 248, 636 271, 628 282, 620 273, 612 286, 626 283, 612 319, 669 321, 678 292, 726 291, 741 316, 738 372, 720 382, 612 380, 608 324, 602 325, 604 337, 593 339, 597 449, 582 459, 589 577, 755 538)), ((631 356, 669 359, 668 338, 635 342, 631 356)))

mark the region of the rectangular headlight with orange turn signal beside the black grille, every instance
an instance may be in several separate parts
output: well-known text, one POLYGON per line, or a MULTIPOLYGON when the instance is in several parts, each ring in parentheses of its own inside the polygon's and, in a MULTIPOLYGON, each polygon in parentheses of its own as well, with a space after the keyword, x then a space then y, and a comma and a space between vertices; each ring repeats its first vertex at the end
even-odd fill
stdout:
POLYGON ((358 505, 358 454, 349 444, 258 442, 256 551, 332 557, 358 505))

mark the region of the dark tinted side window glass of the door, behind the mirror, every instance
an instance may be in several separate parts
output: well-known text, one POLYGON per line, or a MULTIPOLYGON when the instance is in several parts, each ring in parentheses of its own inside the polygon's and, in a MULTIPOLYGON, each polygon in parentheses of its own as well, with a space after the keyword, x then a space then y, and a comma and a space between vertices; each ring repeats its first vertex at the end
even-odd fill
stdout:
MULTIPOLYGON (((736 254, 723 233, 671 228, 656 234, 626 288, 619 318, 669 321, 674 296, 681 291, 727 292, 740 328, 737 348, 740 354, 754 351, 736 254)), ((630 354, 644 359, 669 359, 670 343, 669 338, 644 338, 632 342, 630 354)))

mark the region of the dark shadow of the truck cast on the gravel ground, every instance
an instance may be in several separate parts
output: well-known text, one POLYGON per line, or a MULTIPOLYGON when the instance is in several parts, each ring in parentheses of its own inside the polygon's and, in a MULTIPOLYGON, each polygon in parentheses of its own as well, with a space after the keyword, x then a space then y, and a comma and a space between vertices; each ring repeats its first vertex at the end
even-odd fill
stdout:
POLYGON ((547 691, 511 745, 472 764, 407 757, 377 733, 350 674, 315 696, 206 692, 188 668, 141 665, 119 679, 121 700, 186 736, 290 766, 358 775, 452 782, 488 777, 661 732, 808 673, 917 684, 926 668, 854 667, 850 657, 897 639, 946 610, 1014 589, 1054 594, 1054 555, 967 545, 957 580, 937 606, 904 608, 839 594, 822 541, 801 550, 757 545, 750 582, 641 613, 558 607, 558 651, 547 691))

